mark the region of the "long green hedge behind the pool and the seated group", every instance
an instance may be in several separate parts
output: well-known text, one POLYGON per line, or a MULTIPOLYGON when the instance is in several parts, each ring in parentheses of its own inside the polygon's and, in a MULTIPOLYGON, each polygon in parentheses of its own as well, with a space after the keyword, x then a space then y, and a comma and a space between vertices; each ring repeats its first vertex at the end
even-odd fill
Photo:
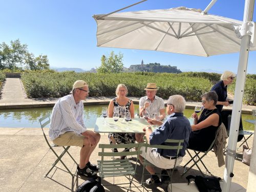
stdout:
MULTIPOLYGON (((200 96, 209 91, 213 83, 219 81, 221 74, 186 72, 173 73, 75 73, 55 71, 27 71, 22 75, 22 81, 30 98, 62 97, 72 89, 73 83, 82 79, 89 84, 90 96, 114 96, 119 83, 124 83, 128 96, 141 97, 145 95, 147 82, 156 82, 158 95, 167 99, 170 95, 180 94, 186 100, 200 101, 200 96)), ((256 105, 256 78, 247 75, 244 93, 244 103, 256 105)), ((235 83, 228 86, 228 92, 234 94, 235 83)))

